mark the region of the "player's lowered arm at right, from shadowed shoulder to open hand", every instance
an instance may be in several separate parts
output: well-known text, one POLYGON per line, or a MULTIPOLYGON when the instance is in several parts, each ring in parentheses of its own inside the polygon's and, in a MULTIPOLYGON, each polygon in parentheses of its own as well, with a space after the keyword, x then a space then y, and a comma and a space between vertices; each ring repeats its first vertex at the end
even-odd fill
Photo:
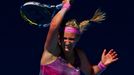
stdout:
POLYGON ((85 75, 99 75, 108 65, 118 60, 117 53, 113 49, 111 49, 108 53, 106 53, 106 49, 104 49, 100 63, 98 65, 91 65, 85 53, 80 49, 77 51, 81 61, 80 68, 85 75))

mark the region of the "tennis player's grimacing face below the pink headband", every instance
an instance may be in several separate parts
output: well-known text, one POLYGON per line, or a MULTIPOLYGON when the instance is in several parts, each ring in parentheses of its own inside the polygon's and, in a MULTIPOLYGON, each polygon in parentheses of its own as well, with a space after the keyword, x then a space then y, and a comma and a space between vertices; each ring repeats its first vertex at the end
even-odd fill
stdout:
POLYGON ((71 51, 73 50, 76 42, 79 40, 79 36, 76 33, 64 32, 64 50, 71 51))

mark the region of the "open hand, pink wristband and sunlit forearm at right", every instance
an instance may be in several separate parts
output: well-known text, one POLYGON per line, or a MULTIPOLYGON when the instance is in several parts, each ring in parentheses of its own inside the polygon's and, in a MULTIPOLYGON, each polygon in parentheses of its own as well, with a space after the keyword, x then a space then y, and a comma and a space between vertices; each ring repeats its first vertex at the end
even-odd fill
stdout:
POLYGON ((97 75, 101 74, 106 69, 106 67, 108 67, 108 65, 117 60, 117 53, 113 49, 111 49, 108 53, 106 53, 106 49, 104 49, 101 56, 101 61, 98 65, 93 66, 94 73, 97 75))

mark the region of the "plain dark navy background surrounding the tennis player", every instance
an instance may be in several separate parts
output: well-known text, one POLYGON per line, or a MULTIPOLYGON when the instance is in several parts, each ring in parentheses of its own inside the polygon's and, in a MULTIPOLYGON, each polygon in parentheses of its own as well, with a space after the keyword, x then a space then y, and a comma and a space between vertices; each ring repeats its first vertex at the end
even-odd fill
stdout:
MULTIPOLYGON (((20 6, 29 0, 0 2, 0 75, 38 75, 40 58, 48 28, 25 22, 20 6)), ((57 4, 59 0, 34 0, 57 4)), ((97 8, 107 13, 107 20, 93 24, 83 34, 82 47, 92 63, 100 61, 102 50, 113 48, 119 60, 103 75, 133 75, 134 8, 129 0, 75 0, 65 19, 89 19, 97 8)))

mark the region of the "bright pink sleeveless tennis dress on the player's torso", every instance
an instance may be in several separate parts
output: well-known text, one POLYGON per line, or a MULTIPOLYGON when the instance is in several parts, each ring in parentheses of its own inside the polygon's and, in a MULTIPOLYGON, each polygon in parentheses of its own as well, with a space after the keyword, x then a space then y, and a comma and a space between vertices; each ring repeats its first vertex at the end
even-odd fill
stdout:
POLYGON ((80 71, 68 67, 65 60, 59 57, 51 64, 41 65, 40 75, 80 75, 80 71))

